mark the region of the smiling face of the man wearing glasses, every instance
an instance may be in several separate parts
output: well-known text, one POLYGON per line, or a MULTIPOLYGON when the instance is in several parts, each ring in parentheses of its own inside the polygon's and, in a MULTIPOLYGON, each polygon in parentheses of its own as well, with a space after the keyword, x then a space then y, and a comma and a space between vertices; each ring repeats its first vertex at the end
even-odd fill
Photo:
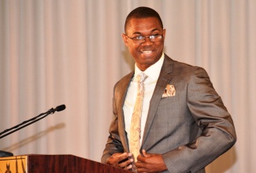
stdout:
POLYGON ((134 57, 137 67, 141 71, 145 71, 161 58, 164 49, 165 29, 161 28, 156 17, 147 17, 143 19, 132 18, 128 22, 126 31, 126 35, 122 35, 124 44, 134 57), (135 43, 128 38, 150 35, 163 35, 163 37, 160 42, 151 42, 149 38, 146 38, 145 42, 141 43, 135 43))

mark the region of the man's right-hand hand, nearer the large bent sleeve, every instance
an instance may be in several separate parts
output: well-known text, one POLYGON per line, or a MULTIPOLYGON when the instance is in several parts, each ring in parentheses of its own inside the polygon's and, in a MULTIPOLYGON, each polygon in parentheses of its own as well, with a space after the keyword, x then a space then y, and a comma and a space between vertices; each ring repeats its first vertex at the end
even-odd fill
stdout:
POLYGON ((161 172, 167 170, 161 154, 149 154, 143 149, 143 153, 137 157, 135 164, 138 172, 161 172))

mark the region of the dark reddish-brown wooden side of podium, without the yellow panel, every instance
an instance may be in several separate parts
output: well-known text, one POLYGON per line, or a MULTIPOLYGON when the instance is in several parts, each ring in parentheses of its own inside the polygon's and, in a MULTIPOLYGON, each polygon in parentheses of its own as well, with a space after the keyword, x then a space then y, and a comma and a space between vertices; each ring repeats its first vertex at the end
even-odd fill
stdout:
POLYGON ((28 173, 131 173, 72 155, 28 155, 28 173))

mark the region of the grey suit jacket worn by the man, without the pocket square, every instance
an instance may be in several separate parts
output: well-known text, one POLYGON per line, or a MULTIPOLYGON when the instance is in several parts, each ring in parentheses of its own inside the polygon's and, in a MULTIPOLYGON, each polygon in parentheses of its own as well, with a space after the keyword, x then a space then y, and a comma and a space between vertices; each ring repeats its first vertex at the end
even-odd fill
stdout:
MULTIPOLYGON (((134 72, 114 86, 113 114, 102 163, 113 153, 129 152, 124 131, 124 99, 134 72)), ((173 61, 164 64, 150 100, 141 149, 162 154, 168 171, 205 172, 204 167, 236 142, 232 117, 203 68, 173 61), (162 98, 172 84, 176 95, 162 98)))

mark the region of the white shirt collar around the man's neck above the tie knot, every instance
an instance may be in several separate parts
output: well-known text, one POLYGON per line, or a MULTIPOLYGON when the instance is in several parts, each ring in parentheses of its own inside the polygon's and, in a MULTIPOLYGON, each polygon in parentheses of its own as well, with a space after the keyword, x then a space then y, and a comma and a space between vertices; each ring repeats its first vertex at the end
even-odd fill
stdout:
MULTIPOLYGON (((144 73, 152 80, 157 81, 158 80, 158 76, 160 74, 161 71, 161 66, 164 63, 164 57, 165 57, 165 53, 161 54, 161 58, 154 64, 152 64, 149 68, 147 68, 144 73)), ((135 64, 135 74, 134 76, 137 76, 141 73, 142 71, 137 67, 137 65, 135 64)), ((135 78, 133 78, 135 79, 135 78)))

